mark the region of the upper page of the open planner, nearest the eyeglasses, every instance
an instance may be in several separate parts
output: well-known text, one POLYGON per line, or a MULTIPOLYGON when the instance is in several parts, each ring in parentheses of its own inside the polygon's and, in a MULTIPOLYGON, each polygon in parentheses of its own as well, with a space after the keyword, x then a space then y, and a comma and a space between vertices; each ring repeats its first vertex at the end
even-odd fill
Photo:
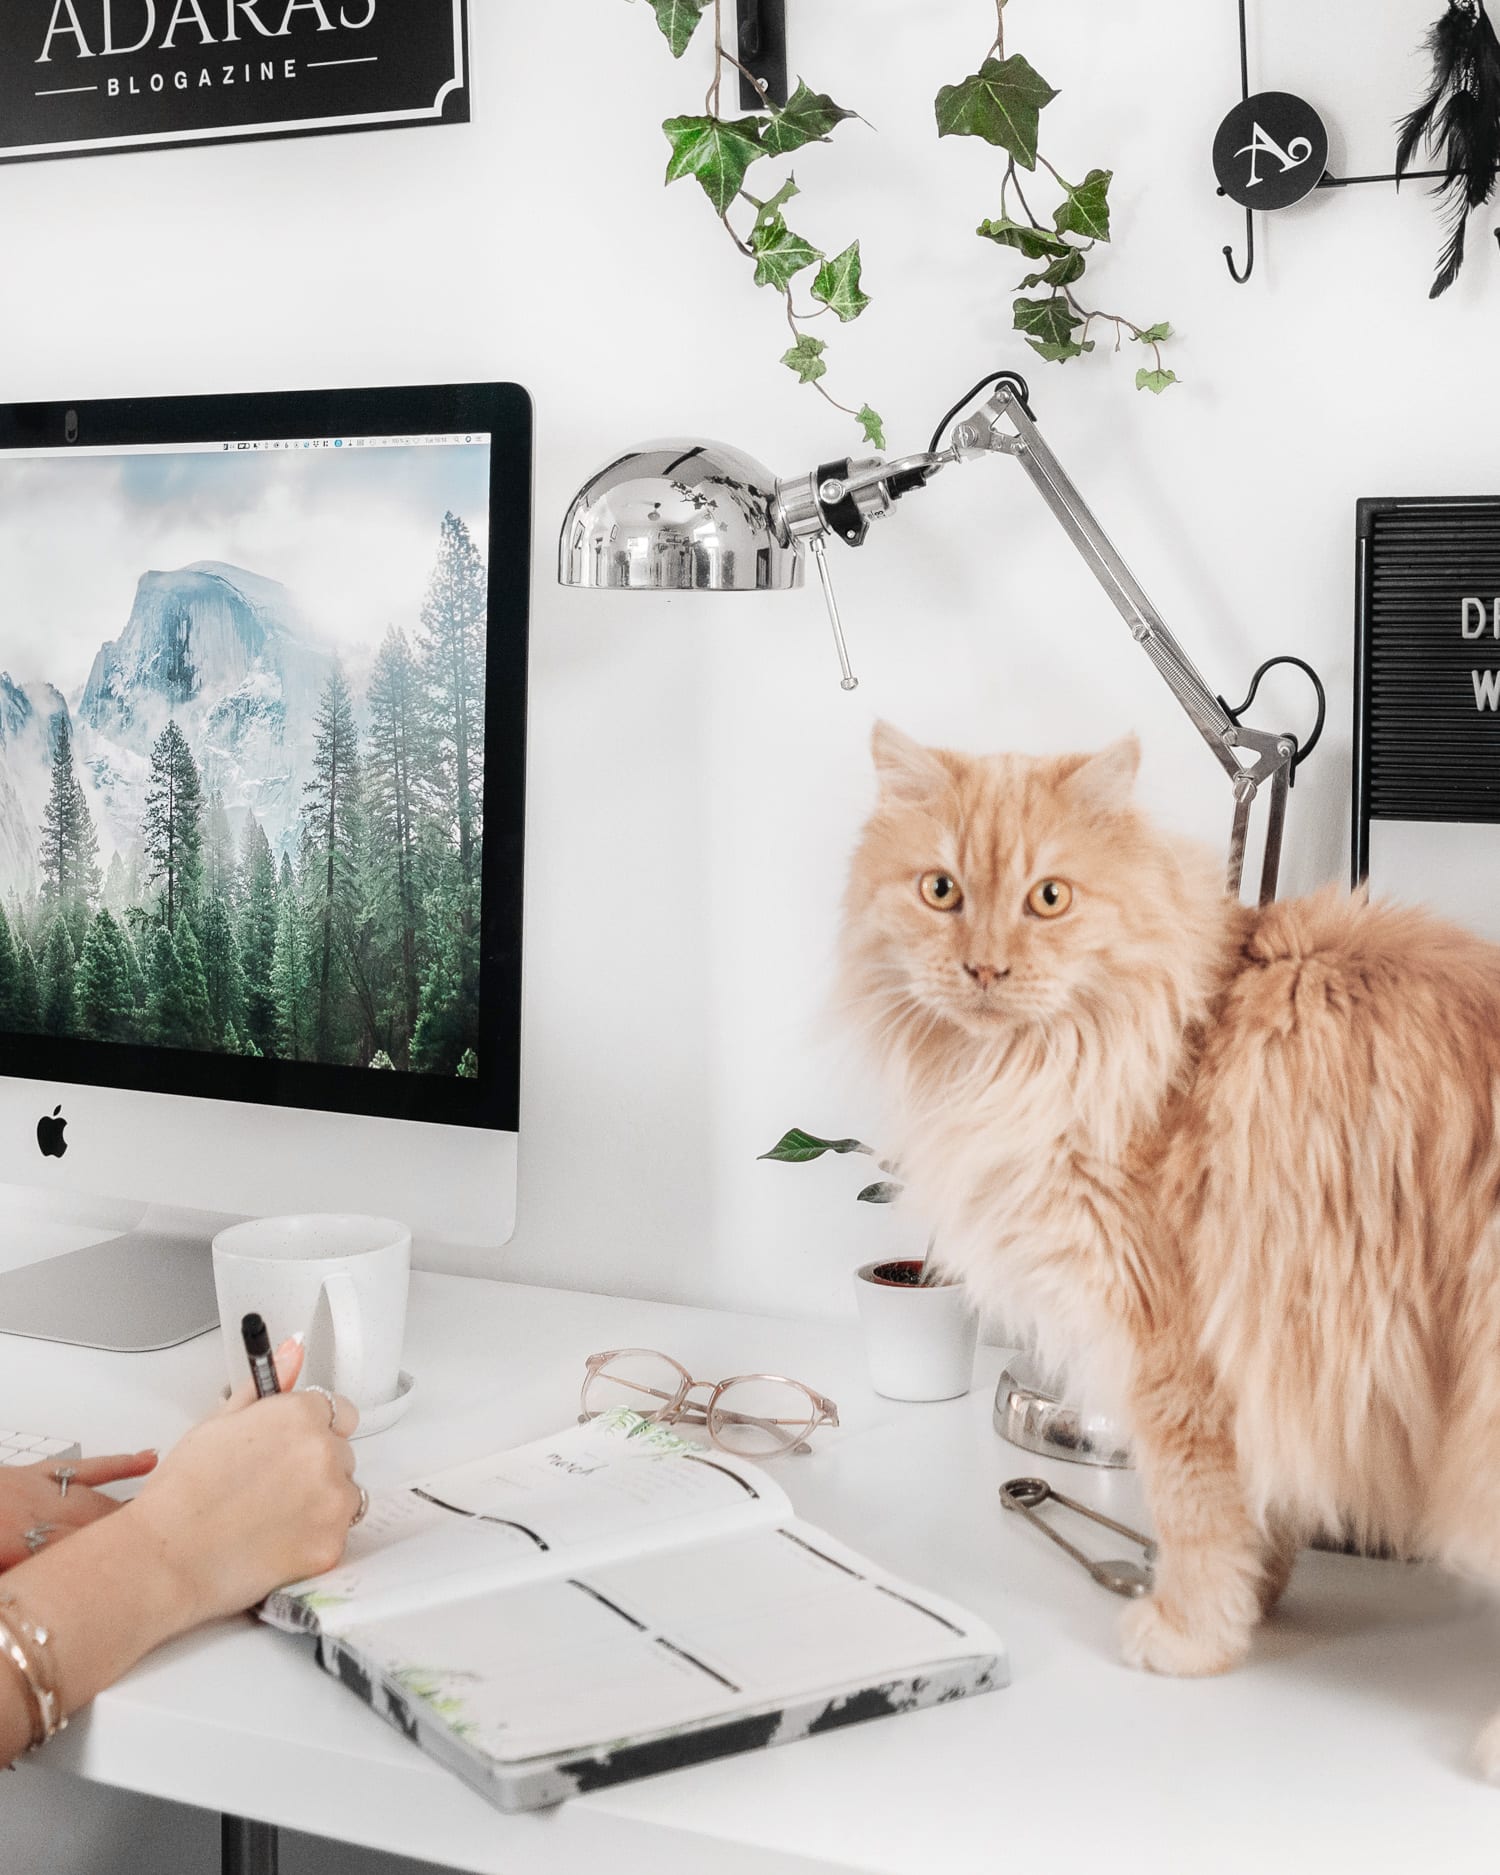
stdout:
POLYGON ((536 1581, 789 1515, 763 1472, 632 1412, 371 1496, 345 1560, 266 1605, 341 1633, 403 1607, 536 1581))

